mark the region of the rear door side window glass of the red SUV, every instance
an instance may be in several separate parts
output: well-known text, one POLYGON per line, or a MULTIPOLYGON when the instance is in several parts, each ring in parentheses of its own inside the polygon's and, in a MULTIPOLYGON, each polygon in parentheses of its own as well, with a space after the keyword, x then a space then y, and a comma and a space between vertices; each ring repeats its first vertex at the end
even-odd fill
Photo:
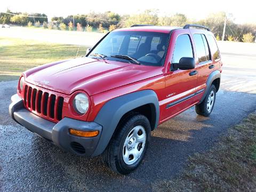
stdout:
POLYGON ((198 57, 198 62, 209 61, 209 47, 207 45, 205 36, 202 34, 194 34, 194 41, 196 46, 196 55, 198 57))

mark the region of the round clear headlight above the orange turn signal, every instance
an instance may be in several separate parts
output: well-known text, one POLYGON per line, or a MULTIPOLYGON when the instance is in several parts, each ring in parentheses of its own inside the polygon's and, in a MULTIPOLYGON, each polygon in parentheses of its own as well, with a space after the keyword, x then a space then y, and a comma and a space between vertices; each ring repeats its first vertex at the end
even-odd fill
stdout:
POLYGON ((74 109, 78 114, 85 114, 89 108, 89 99, 83 93, 78 93, 74 98, 74 109))

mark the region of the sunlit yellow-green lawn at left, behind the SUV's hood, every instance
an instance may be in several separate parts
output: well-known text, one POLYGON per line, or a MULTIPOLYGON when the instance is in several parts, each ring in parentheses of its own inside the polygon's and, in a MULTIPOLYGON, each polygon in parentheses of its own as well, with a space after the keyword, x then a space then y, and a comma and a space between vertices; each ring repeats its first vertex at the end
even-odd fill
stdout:
POLYGON ((18 79, 30 68, 85 55, 87 47, 0 37, 0 81, 18 79), (79 51, 78 51, 79 48, 79 51))

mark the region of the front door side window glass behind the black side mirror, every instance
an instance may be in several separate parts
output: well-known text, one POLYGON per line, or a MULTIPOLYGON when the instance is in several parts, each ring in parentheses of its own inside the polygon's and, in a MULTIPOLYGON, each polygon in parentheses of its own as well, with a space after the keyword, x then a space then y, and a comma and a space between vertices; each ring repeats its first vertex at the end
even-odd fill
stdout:
POLYGON ((193 49, 188 35, 178 36, 172 56, 172 63, 179 63, 182 57, 193 58, 193 49))

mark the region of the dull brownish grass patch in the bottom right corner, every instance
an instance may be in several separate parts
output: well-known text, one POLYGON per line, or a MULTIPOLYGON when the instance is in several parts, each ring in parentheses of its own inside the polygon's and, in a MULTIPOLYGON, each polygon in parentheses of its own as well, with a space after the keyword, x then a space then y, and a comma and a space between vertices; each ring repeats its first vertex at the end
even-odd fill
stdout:
POLYGON ((189 158, 180 177, 155 191, 256 191, 256 113, 230 127, 210 151, 189 158))

